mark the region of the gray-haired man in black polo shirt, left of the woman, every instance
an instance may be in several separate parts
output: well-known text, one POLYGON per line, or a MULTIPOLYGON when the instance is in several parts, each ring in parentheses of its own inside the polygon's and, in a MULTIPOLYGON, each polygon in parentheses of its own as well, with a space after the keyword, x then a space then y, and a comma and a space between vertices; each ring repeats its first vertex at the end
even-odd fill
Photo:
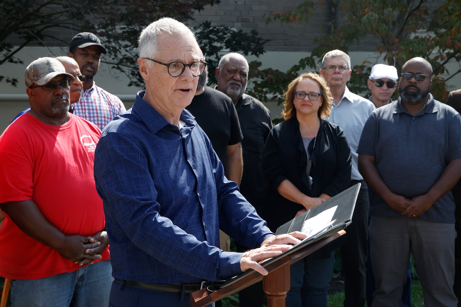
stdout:
MULTIPOLYGON (((232 99, 242 129, 243 174, 240 192, 261 215, 267 194, 267 184, 262 174, 262 151, 272 129, 271 113, 258 99, 245 94, 248 62, 241 54, 228 53, 220 59, 216 80, 217 89, 232 99)), ((237 244, 237 251, 245 249, 237 244)), ((239 295, 241 307, 262 306, 260 283, 240 291, 239 295), (260 292, 260 295, 255 295, 254 291, 260 292)))

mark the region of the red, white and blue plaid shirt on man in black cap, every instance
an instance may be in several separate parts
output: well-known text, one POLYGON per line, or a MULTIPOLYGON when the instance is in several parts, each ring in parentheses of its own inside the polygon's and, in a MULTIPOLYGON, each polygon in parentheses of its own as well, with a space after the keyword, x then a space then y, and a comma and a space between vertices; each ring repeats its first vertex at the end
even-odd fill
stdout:
POLYGON ((115 95, 93 86, 83 90, 80 101, 74 104, 74 114, 94 123, 101 130, 112 118, 126 111, 122 101, 115 95))

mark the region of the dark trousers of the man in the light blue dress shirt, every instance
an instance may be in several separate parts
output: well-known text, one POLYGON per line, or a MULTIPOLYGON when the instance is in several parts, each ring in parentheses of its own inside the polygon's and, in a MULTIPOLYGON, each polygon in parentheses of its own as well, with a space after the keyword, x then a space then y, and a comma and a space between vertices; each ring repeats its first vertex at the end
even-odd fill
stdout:
POLYGON ((351 180, 351 186, 361 183, 355 203, 352 223, 346 228, 346 244, 341 247, 344 273, 344 307, 363 307, 366 300, 366 258, 368 256, 368 213, 370 202, 364 180, 351 180))

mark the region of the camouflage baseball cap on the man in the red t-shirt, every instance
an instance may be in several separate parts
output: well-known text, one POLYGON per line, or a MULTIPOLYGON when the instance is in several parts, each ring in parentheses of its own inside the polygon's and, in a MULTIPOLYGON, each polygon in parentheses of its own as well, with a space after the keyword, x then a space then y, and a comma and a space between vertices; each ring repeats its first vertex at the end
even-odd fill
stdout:
POLYGON ((70 79, 75 79, 71 74, 65 72, 61 62, 55 58, 38 58, 27 66, 24 81, 26 87, 32 84, 45 85, 57 75, 66 75, 70 79))

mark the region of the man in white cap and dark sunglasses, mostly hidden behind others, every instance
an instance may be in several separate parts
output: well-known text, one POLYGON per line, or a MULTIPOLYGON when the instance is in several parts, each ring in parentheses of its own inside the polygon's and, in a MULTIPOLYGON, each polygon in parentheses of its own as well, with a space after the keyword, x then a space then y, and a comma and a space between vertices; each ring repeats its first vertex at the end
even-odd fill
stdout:
POLYGON ((372 68, 367 80, 368 88, 372 91, 369 100, 377 107, 392 102, 392 94, 397 88, 397 69, 394 66, 376 64, 372 68))

